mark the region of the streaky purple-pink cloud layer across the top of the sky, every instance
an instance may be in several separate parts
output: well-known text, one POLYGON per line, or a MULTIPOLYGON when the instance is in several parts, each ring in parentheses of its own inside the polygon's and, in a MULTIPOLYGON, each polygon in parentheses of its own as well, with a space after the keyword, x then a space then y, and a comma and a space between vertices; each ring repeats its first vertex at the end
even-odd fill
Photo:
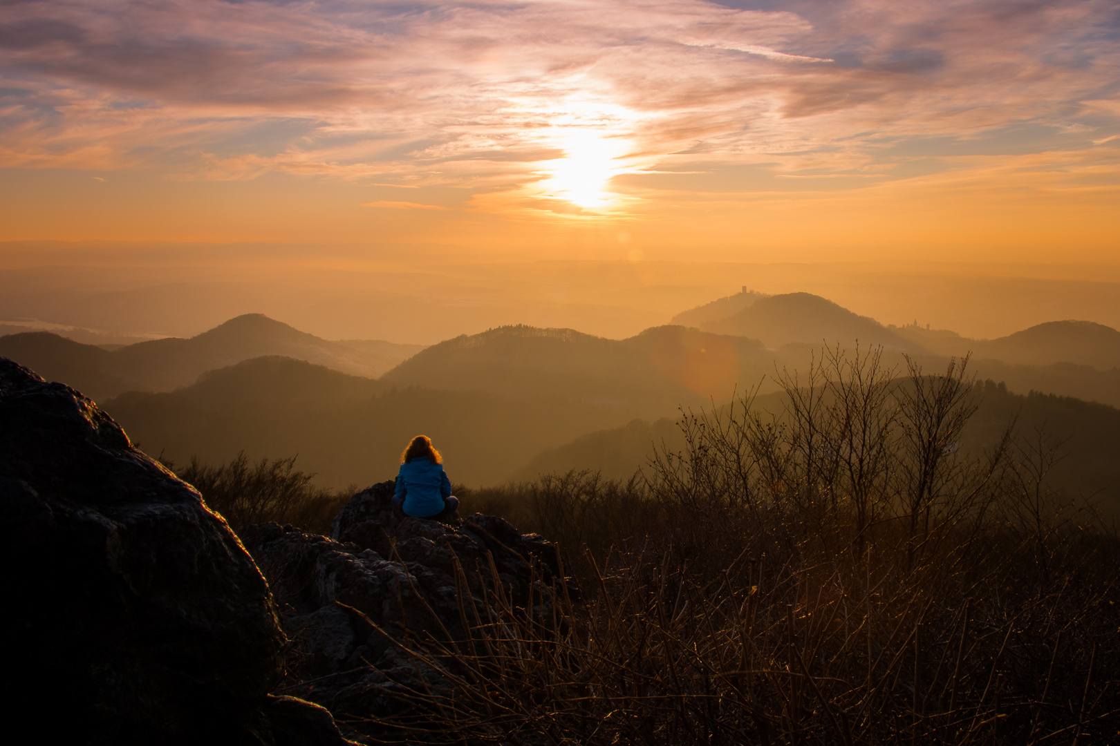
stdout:
POLYGON ((908 138, 1081 116, 1098 142, 1112 134, 1100 130, 1118 116, 1112 2, 805 8, 9 2, 0 166, 281 171, 523 199, 548 196, 550 169, 588 142, 573 133, 613 145, 607 180, 712 160, 881 177, 879 154, 908 138))

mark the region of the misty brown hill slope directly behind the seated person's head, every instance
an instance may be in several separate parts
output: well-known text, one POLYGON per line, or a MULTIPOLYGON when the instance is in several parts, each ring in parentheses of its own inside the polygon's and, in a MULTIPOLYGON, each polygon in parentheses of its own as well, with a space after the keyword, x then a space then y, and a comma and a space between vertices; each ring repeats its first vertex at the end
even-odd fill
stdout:
POLYGON ((151 455, 208 463, 298 454, 316 482, 343 488, 396 474, 411 437, 447 454, 456 482, 513 476, 540 451, 626 422, 608 405, 563 397, 393 387, 290 358, 265 357, 203 375, 170 393, 130 391, 102 403, 151 455))

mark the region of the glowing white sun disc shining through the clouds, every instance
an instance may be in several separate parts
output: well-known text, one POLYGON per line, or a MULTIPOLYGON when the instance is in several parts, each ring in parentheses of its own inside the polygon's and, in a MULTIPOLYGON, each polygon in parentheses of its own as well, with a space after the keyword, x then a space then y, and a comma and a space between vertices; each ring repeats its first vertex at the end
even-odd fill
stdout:
POLYGON ((603 209, 617 199, 607 182, 623 169, 617 159, 626 143, 594 130, 576 130, 558 138, 564 157, 552 161, 543 182, 549 196, 566 199, 585 209, 603 209))

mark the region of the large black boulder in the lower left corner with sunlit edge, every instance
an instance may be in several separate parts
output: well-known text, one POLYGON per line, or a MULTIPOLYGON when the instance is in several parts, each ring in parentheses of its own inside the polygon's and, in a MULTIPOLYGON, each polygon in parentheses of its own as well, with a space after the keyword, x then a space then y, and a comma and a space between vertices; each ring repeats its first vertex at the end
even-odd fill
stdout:
POLYGON ((343 744, 270 697, 268 586, 198 493, 96 405, 0 358, 0 708, 36 740, 343 744))

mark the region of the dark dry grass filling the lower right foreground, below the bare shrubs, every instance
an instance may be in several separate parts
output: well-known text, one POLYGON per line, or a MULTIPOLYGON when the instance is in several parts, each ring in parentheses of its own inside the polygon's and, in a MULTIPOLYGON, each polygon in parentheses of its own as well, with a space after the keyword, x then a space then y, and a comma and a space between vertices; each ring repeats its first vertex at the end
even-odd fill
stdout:
POLYGON ((371 724, 447 743, 1116 743, 1116 544, 1080 546, 1045 587, 1016 583, 1015 549, 976 557, 983 573, 900 573, 874 546, 797 566, 745 549, 712 573, 647 545, 601 569, 588 553, 586 601, 538 586, 531 611, 492 577, 480 607, 460 594, 467 639, 409 645, 446 687, 413 683, 405 715, 371 724))

